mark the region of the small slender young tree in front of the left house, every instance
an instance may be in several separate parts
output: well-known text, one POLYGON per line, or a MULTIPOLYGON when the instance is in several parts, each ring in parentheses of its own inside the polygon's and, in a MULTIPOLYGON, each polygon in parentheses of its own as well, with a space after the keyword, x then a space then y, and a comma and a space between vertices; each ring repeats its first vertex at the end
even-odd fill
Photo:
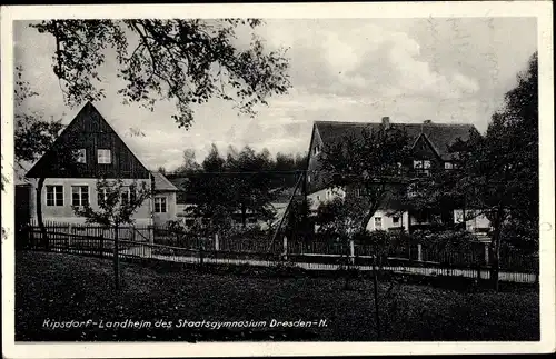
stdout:
POLYGON ((88 223, 99 223, 107 229, 113 229, 113 273, 115 287, 120 288, 119 275, 119 227, 135 222, 133 213, 151 196, 146 182, 125 185, 122 179, 97 180, 99 208, 93 209, 89 202, 81 207, 72 206, 77 216, 85 217, 88 223))

